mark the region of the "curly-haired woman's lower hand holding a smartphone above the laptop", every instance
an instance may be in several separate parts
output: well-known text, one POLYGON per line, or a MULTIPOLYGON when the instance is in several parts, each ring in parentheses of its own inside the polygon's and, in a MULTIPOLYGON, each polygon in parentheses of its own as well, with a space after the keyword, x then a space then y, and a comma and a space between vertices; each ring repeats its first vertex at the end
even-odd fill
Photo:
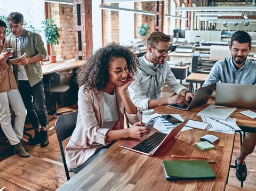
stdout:
POLYGON ((141 121, 134 123, 133 126, 129 128, 129 137, 141 138, 144 135, 148 135, 152 127, 153 126, 145 127, 141 121))

